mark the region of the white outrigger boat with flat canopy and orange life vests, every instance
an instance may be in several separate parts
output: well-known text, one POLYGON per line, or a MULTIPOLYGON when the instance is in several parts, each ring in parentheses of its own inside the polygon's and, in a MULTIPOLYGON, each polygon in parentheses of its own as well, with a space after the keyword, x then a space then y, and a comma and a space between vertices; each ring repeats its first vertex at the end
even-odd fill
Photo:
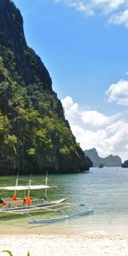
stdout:
POLYGON ((46 212, 49 207, 55 208, 63 204, 67 201, 66 198, 61 198, 55 201, 49 201, 47 199, 47 189, 53 189, 55 186, 48 185, 48 177, 46 177, 45 184, 32 184, 32 180, 29 181, 29 184, 26 185, 18 185, 19 178, 17 177, 15 186, 5 186, 0 187, 0 191, 4 190, 7 192, 14 192, 12 198, 6 197, 3 200, 0 199, 0 218, 15 216, 15 215, 23 215, 27 213, 38 213, 38 212, 46 212), (32 190, 44 190, 44 197, 33 199, 30 195, 32 190), (22 191, 24 196, 17 197, 17 191, 22 191), (26 195, 27 192, 27 195, 26 195))

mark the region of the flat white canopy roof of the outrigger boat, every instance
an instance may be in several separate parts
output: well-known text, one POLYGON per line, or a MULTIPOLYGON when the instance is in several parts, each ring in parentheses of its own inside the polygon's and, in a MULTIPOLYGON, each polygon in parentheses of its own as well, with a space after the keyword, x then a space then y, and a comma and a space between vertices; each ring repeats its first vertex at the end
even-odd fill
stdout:
POLYGON ((50 189, 55 188, 55 186, 48 186, 48 185, 27 185, 27 186, 9 186, 9 187, 0 187, 0 190, 36 190, 36 189, 50 189))

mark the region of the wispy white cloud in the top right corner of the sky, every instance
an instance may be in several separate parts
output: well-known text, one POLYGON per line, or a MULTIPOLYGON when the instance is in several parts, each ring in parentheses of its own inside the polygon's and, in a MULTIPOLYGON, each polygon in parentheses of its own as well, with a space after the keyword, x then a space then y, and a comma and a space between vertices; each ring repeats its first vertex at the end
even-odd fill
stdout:
POLYGON ((85 15, 95 15, 100 12, 107 15, 108 23, 128 27, 128 0, 54 0, 64 3, 69 8, 83 12, 85 15))

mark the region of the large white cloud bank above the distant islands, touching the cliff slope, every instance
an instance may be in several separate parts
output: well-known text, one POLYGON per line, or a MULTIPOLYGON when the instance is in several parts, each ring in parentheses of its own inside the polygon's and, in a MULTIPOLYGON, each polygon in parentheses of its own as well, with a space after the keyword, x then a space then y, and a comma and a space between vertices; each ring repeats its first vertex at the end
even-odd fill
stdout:
POLYGON ((62 104, 63 107, 65 105, 66 118, 73 134, 83 150, 96 148, 101 156, 118 154, 122 160, 128 158, 128 122, 121 121, 119 113, 106 116, 96 110, 83 110, 73 102, 72 97, 66 97, 62 104), (73 106, 77 108, 72 114, 73 106))

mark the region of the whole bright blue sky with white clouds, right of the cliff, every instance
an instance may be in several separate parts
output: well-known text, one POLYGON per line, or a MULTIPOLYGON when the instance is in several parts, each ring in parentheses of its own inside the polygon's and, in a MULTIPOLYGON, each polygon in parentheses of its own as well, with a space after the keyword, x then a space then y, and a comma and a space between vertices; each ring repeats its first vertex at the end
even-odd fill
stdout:
POLYGON ((83 150, 128 159, 128 0, 14 0, 83 150))

